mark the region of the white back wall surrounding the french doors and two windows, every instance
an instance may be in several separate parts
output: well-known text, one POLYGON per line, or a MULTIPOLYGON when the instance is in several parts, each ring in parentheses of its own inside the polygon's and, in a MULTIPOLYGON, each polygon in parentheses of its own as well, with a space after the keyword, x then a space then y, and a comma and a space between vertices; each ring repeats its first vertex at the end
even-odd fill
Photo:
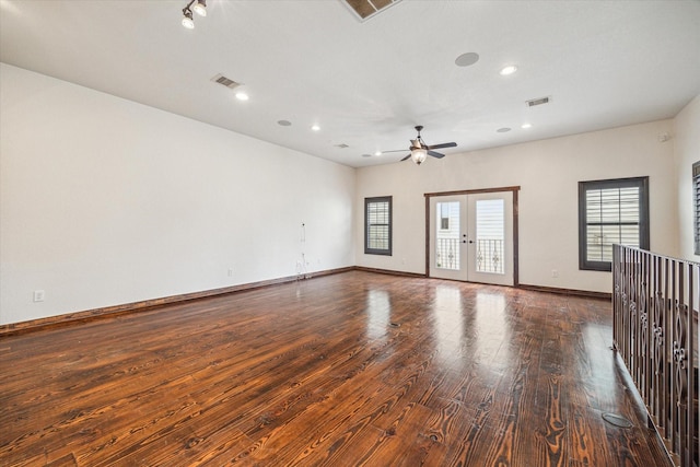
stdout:
POLYGON ((425 192, 521 186, 520 282, 595 292, 611 291, 611 275, 579 270, 578 183, 649 176, 651 247, 678 252, 677 190, 673 143, 658 135, 672 120, 429 157, 358 171, 355 248, 358 265, 424 272, 425 192), (394 255, 365 255, 363 199, 394 196, 394 255), (552 278, 552 269, 559 271, 552 278))

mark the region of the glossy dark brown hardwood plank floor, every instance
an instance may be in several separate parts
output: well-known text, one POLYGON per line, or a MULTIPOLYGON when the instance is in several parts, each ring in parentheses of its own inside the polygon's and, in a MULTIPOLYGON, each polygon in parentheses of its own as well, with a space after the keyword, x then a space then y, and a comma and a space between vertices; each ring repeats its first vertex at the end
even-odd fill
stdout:
POLYGON ((670 466, 610 345, 607 301, 361 271, 9 336, 0 465, 670 466))

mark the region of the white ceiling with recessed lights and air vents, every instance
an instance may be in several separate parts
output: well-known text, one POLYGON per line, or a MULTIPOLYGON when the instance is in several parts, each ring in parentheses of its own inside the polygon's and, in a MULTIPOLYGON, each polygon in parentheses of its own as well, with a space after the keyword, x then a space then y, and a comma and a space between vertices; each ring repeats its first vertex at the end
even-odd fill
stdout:
POLYGON ((362 154, 408 148, 416 125, 454 154, 670 118, 700 94, 697 0, 402 0, 365 22, 340 0, 209 0, 191 31, 186 3, 0 0, 0 60, 354 167, 401 159, 362 154))

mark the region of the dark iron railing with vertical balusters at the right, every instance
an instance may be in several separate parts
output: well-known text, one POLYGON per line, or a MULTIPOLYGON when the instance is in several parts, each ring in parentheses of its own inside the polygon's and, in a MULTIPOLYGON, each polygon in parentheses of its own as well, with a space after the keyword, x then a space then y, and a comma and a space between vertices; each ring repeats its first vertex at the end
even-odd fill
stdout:
POLYGON ((700 265, 615 245, 612 276, 615 349, 675 460, 698 465, 700 265))

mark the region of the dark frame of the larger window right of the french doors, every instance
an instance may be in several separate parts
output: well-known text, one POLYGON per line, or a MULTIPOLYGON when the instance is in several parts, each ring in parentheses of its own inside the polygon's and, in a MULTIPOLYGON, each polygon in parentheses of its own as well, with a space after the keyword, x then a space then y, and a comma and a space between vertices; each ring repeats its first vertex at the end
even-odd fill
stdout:
MULTIPOLYGON (((639 200, 639 242, 640 248, 649 249, 649 177, 614 178, 607 180, 579 182, 579 269, 592 271, 611 271, 610 261, 590 261, 587 257, 586 240, 586 191, 605 188, 640 188, 639 200)), ((615 223, 626 225, 626 223, 615 223)), ((629 225, 629 223, 628 223, 629 225)))

